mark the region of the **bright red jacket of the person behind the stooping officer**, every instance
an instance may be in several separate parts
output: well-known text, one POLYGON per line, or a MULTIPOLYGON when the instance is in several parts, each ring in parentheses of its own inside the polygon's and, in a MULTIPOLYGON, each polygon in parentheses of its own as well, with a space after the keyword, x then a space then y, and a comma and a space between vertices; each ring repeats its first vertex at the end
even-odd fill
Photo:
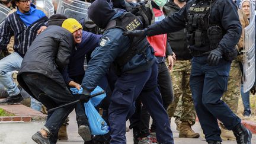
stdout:
MULTIPOLYGON (((161 21, 164 18, 164 12, 153 8, 155 14, 155 22, 161 21)), ((167 34, 160 34, 156 36, 147 37, 149 43, 155 50, 155 56, 165 56, 167 48, 167 34)))

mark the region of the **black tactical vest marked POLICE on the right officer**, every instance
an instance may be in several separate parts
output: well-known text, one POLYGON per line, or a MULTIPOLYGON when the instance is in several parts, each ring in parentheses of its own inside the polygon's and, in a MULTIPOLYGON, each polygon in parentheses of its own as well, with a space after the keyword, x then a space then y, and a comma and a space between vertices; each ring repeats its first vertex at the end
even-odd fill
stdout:
POLYGON ((209 45, 209 50, 216 49, 223 37, 221 24, 211 23, 210 10, 216 0, 194 1, 188 9, 186 28, 187 43, 195 47, 209 45))

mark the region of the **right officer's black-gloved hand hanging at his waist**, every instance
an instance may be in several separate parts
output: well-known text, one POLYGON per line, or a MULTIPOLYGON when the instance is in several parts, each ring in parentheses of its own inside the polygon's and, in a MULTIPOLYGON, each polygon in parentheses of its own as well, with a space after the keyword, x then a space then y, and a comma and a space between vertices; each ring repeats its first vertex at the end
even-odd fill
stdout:
POLYGON ((217 65, 219 60, 222 58, 223 52, 222 49, 217 47, 216 49, 210 51, 210 54, 207 58, 207 62, 210 66, 217 65))

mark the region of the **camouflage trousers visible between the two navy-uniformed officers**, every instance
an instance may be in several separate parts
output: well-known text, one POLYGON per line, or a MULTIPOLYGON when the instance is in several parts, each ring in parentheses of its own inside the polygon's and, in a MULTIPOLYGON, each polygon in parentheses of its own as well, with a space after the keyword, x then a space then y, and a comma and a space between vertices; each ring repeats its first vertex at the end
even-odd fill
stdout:
POLYGON ((174 117, 174 113, 177 113, 180 121, 188 121, 193 125, 196 120, 196 111, 189 86, 190 72, 190 60, 177 60, 175 62, 173 71, 170 73, 174 88, 174 102, 169 105, 167 113, 170 118, 174 117), (178 105, 179 100, 181 100, 180 105, 178 105))

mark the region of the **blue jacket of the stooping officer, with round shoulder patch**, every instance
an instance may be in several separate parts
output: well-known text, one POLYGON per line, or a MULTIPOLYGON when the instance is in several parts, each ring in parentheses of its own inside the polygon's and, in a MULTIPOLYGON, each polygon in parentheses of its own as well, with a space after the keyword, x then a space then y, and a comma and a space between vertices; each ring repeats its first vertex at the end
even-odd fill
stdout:
MULTIPOLYGON (((119 16, 120 13, 118 12, 113 18, 119 16)), ((92 58, 88 63, 88 69, 82 81, 82 87, 84 88, 83 94, 88 94, 88 92, 91 92, 98 85, 101 77, 110 68, 111 63, 128 50, 130 43, 129 37, 123 36, 123 30, 121 28, 111 28, 105 31, 101 37, 99 46, 91 54, 92 58)), ((149 46, 146 49, 145 55, 136 54, 123 66, 121 72, 136 73, 146 71, 154 62, 156 62, 154 50, 149 46)))

